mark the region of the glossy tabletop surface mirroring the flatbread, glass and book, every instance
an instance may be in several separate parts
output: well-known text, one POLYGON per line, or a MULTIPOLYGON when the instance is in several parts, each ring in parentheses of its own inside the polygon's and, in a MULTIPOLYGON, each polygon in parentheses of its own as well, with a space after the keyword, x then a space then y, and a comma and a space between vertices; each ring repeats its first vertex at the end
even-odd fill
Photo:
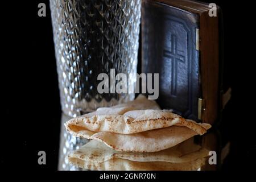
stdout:
POLYGON ((229 154, 230 143, 221 146, 220 132, 215 129, 164 151, 114 151, 101 142, 72 137, 64 127, 64 123, 69 119, 70 117, 62 114, 58 164, 58 170, 61 171, 217 170, 229 154))

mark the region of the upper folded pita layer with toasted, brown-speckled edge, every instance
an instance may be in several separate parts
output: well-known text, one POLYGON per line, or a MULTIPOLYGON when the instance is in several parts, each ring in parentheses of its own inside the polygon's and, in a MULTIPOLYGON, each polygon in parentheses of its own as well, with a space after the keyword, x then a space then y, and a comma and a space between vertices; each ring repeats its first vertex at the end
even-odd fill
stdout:
POLYGON ((97 114, 97 111, 96 113, 89 113, 69 120, 65 123, 65 127, 75 137, 82 138, 89 138, 94 133, 101 131, 135 134, 173 125, 186 126, 200 135, 207 132, 207 129, 200 124, 186 120, 168 110, 130 110, 121 115, 128 108, 130 109, 130 107, 114 108, 112 111, 109 111, 111 114, 102 114, 104 113, 102 110, 99 111, 100 114, 97 114), (112 114, 116 111, 122 112, 112 114))

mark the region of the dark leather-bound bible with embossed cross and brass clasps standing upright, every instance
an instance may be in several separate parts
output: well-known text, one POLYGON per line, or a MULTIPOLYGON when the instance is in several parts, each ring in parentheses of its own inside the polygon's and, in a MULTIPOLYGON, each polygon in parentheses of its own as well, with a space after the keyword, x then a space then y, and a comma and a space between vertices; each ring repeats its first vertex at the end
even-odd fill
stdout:
POLYGON ((197 1, 143 0, 142 72, 159 73, 163 109, 213 124, 225 102, 222 15, 220 7, 217 16, 209 10, 197 1))

